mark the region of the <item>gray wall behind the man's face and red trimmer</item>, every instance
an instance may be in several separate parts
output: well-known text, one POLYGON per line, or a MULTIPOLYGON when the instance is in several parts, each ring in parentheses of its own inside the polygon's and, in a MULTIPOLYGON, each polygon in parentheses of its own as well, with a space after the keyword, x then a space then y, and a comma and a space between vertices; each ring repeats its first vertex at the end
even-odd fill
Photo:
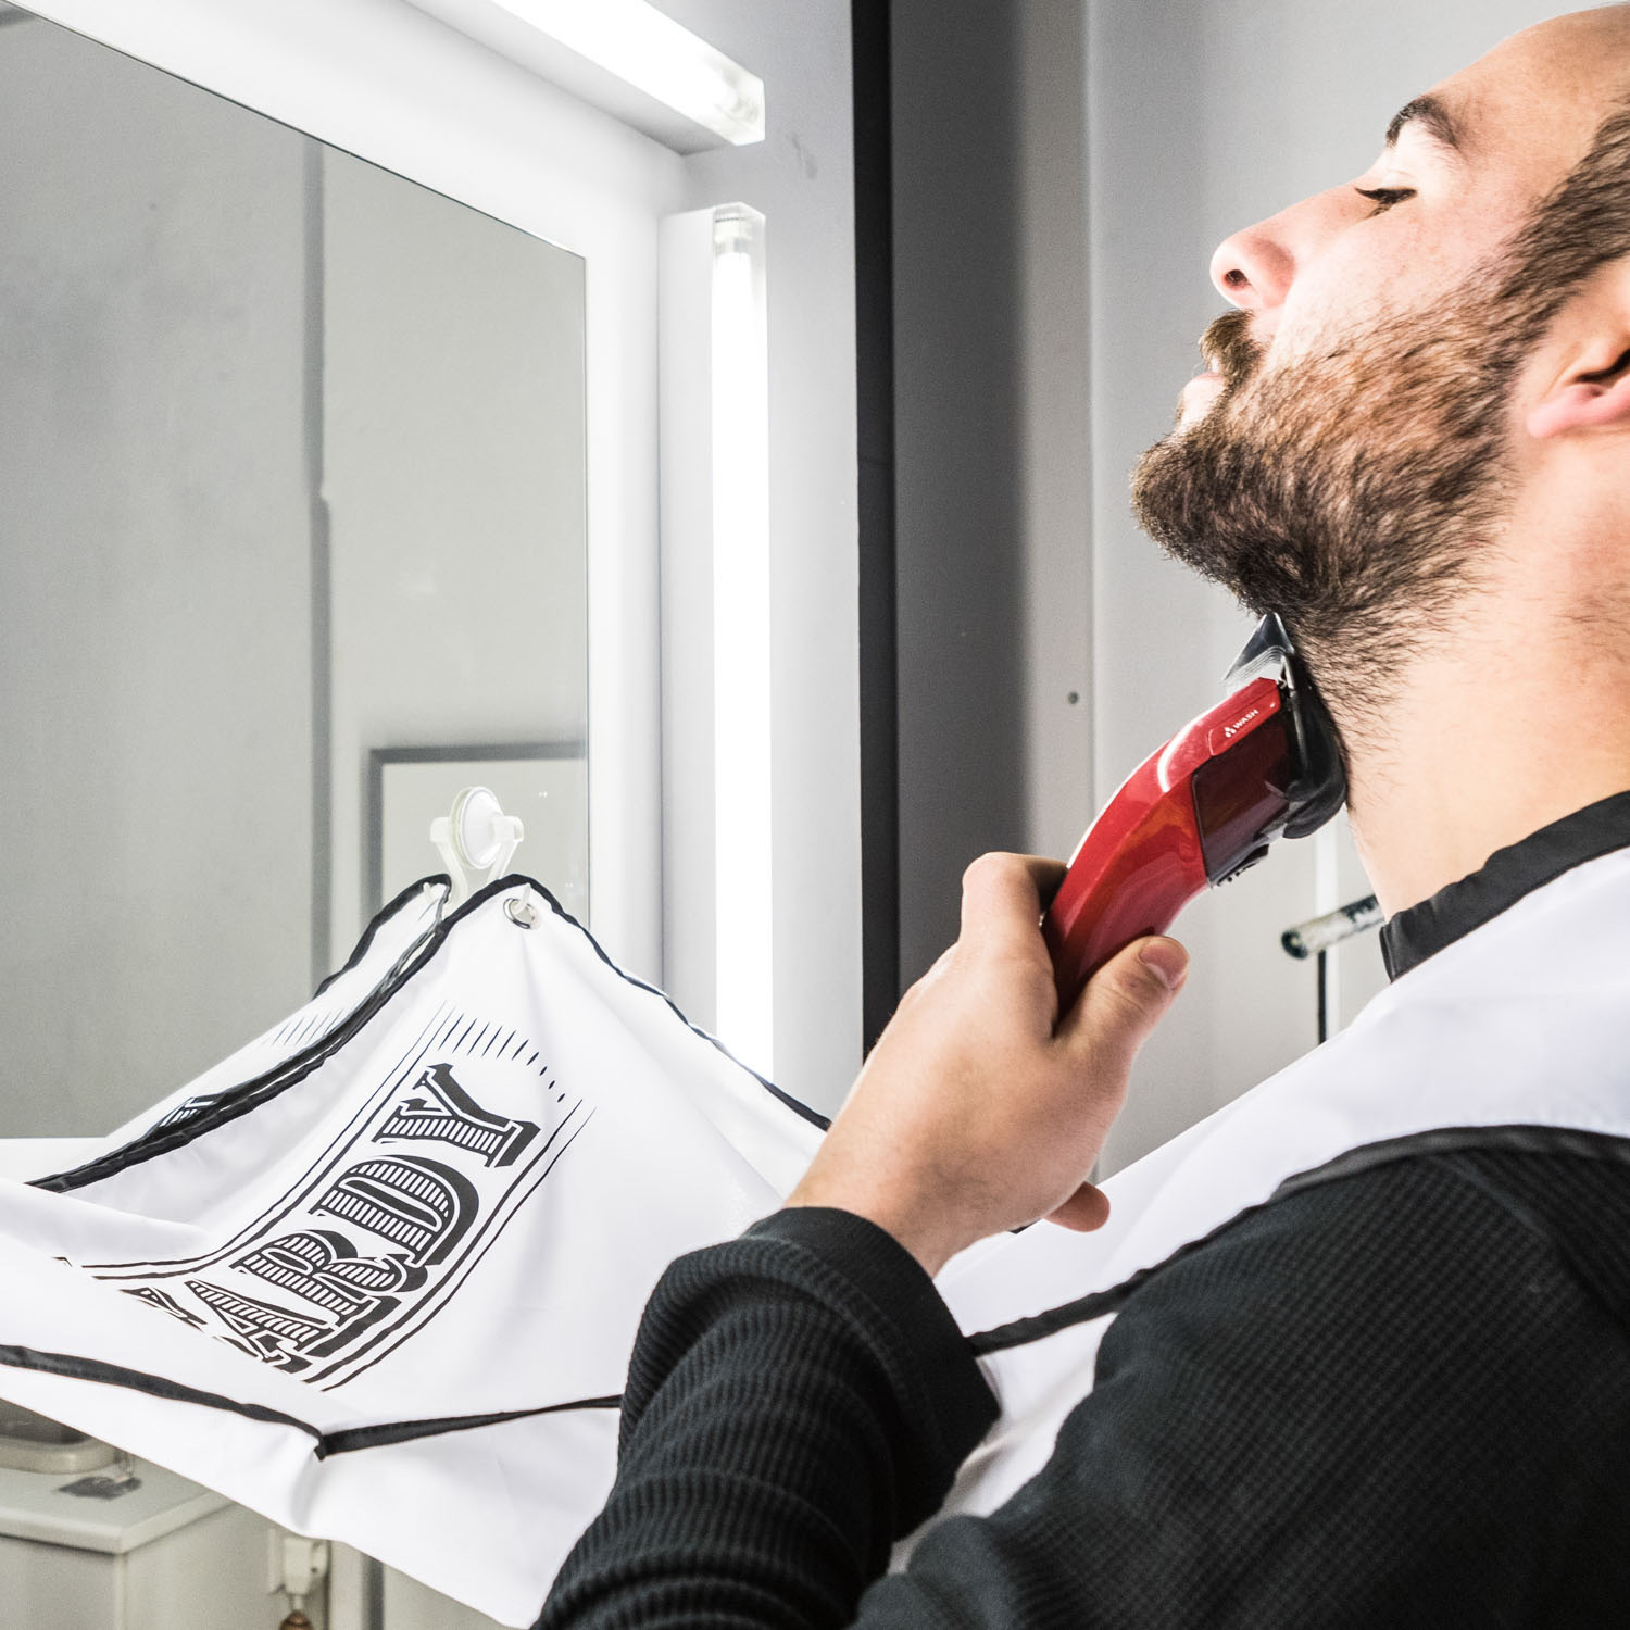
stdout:
MULTIPOLYGON (((1126 504, 1224 310, 1216 243, 1356 176, 1410 96, 1565 10, 895 0, 908 978, 955 934, 967 861, 1068 854, 1095 804, 1219 694, 1249 632, 1126 504), (1060 706, 1069 689, 1079 709, 1060 706)), ((1319 843, 1283 844, 1178 919, 1190 983, 1105 1169, 1314 1045, 1314 970, 1280 931, 1320 893, 1368 892, 1345 835, 1322 857, 1319 843)), ((1374 937, 1337 960, 1351 1017, 1382 983, 1374 937)))

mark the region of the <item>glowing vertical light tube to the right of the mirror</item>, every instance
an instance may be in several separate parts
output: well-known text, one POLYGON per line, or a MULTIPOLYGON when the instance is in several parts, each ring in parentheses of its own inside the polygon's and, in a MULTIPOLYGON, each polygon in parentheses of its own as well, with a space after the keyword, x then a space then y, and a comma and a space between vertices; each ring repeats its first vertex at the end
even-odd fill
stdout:
POLYGON ((745 205, 714 214, 711 394, 716 1024, 769 1076, 769 354, 764 217, 745 205))

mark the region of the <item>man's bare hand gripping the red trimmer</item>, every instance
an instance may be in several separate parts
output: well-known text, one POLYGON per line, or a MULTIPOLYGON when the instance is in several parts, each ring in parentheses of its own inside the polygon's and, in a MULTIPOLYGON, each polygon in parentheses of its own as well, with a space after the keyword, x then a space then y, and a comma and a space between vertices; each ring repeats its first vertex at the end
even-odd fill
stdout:
POLYGON ((869 1218, 929 1273, 1042 1216, 1104 1226, 1108 1200, 1084 1178, 1188 954, 1136 941, 1060 1019, 1040 918, 1063 870, 1017 854, 968 867, 957 944, 906 991, 789 1206, 869 1218))

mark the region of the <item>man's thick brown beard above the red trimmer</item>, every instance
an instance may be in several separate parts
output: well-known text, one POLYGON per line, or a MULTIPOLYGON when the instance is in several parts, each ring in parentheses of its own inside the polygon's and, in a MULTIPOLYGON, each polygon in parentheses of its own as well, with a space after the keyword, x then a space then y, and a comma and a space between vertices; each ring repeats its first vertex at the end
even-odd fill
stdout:
POLYGON ((1278 611, 1348 737, 1449 636, 1508 504, 1521 349, 1490 347, 1496 279, 1263 368, 1244 313, 1206 334, 1224 378, 1139 460, 1133 509, 1175 559, 1278 611))

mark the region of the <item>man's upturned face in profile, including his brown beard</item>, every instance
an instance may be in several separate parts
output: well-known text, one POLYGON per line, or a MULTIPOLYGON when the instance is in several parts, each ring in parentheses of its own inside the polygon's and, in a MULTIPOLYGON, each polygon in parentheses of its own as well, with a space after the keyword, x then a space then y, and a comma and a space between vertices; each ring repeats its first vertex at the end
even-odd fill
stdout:
POLYGON ((1514 36, 1410 103, 1355 184, 1213 259, 1237 310, 1134 504, 1178 559, 1284 615, 1350 734, 1488 562, 1545 316, 1514 240, 1589 148, 1627 51, 1625 7, 1514 36))

